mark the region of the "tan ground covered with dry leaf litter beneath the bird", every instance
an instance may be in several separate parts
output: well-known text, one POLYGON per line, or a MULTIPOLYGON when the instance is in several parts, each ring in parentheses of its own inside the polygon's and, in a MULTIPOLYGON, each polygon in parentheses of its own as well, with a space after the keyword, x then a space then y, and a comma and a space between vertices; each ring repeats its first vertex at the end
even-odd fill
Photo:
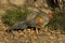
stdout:
POLYGON ((0 11, 0 43, 65 43, 65 34, 58 30, 39 30, 38 33, 34 30, 5 32, 8 27, 2 24, 1 14, 2 11, 0 11))

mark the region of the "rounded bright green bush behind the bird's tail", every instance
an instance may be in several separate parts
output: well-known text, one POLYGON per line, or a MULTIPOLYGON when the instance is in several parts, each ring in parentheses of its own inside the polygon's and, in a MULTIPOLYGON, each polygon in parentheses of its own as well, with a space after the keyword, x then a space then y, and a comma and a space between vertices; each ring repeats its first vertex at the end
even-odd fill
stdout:
POLYGON ((28 10, 12 8, 5 11, 4 15, 2 16, 2 22, 5 25, 12 26, 15 23, 25 19, 27 14, 29 14, 28 10))

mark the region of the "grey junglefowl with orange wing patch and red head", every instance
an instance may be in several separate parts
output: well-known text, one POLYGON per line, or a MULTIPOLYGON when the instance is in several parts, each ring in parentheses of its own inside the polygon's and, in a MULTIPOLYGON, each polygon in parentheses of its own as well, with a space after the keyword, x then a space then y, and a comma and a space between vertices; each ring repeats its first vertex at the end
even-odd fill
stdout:
POLYGON ((24 29, 31 29, 31 28, 41 28, 48 25, 50 22, 50 18, 52 17, 52 14, 49 13, 47 15, 42 15, 39 13, 32 13, 27 16, 26 19, 13 25, 10 29, 6 31, 12 30, 24 30, 24 29))

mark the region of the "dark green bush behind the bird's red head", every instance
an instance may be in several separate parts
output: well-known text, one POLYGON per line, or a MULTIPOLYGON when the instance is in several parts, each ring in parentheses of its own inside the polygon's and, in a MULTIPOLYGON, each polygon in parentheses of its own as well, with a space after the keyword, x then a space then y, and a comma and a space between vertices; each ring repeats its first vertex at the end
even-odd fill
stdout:
POLYGON ((52 29, 57 30, 62 29, 65 30, 65 13, 64 12, 53 12, 53 18, 49 23, 49 27, 52 29))

